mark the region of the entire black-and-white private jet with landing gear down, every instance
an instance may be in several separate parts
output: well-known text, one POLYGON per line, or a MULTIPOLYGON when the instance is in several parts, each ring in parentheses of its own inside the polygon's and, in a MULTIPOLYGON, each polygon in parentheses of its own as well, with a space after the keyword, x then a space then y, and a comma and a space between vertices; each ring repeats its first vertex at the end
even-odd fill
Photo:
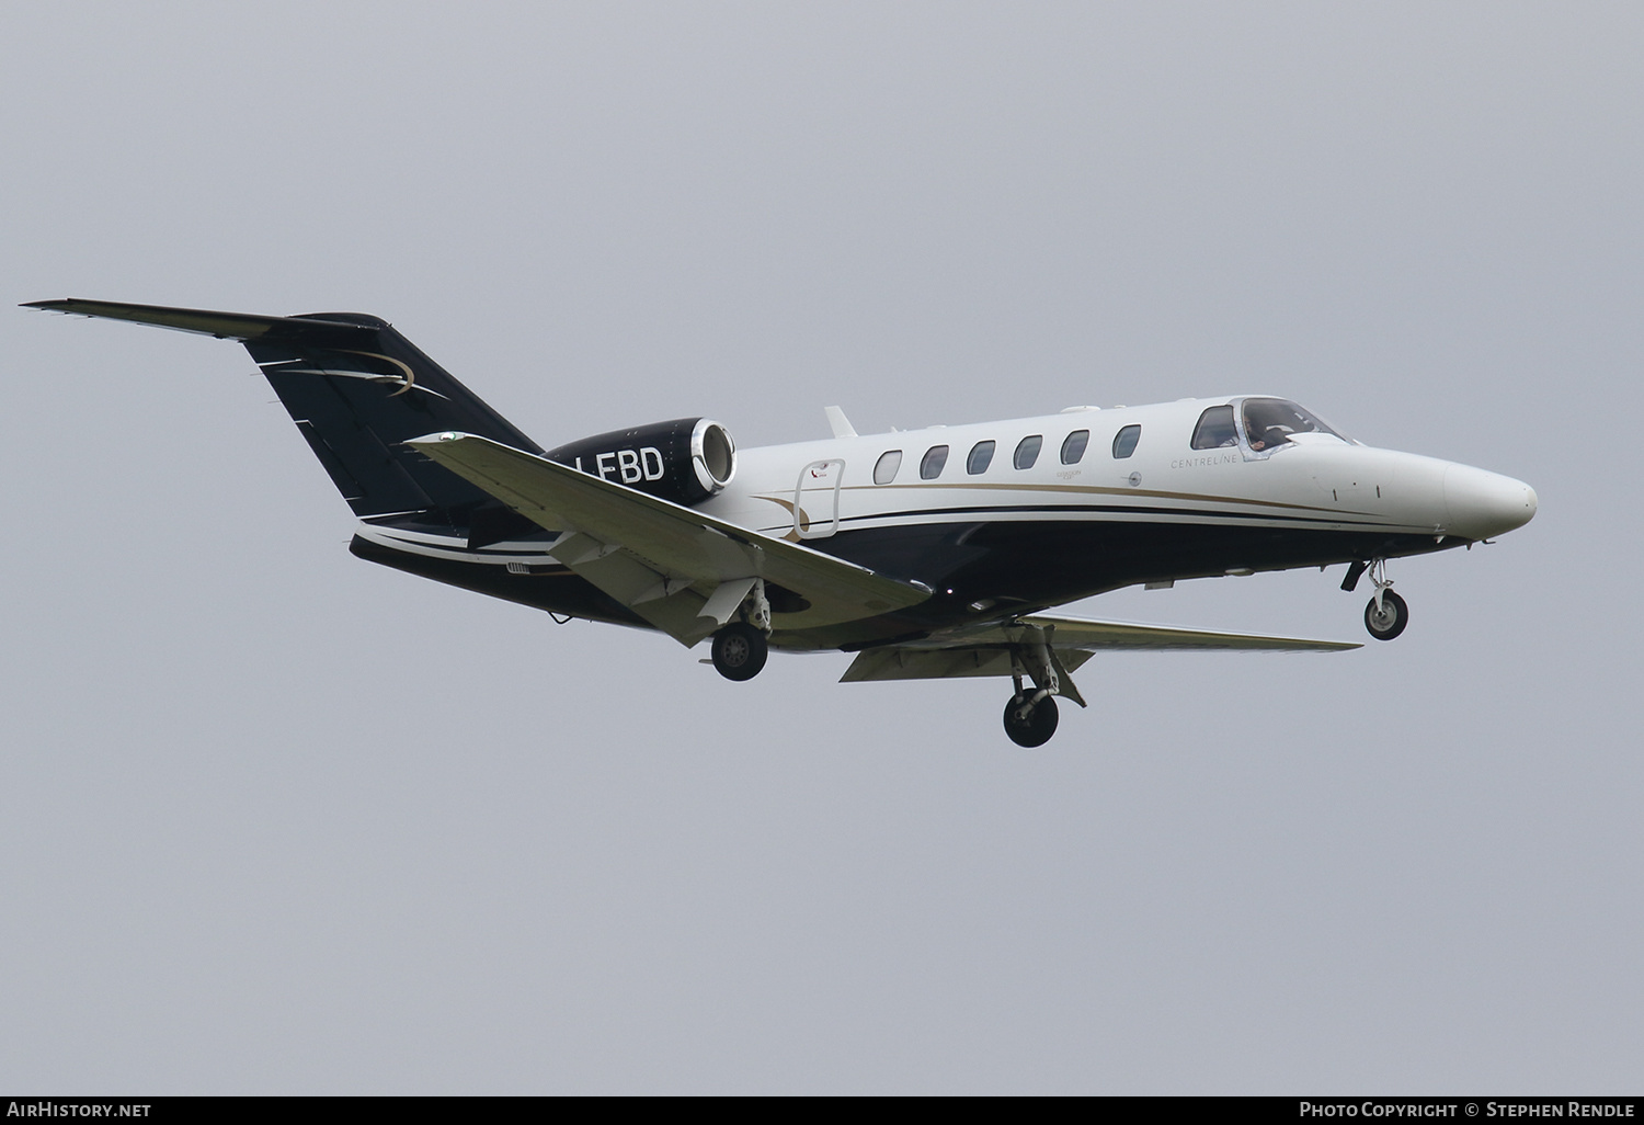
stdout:
POLYGON ((544 451, 358 312, 245 316, 110 301, 30 308, 242 342, 360 518, 350 549, 549 610, 712 640, 751 679, 771 646, 857 653, 845 681, 1009 676, 1004 732, 1055 732, 1069 673, 1110 648, 1340 641, 1046 610, 1126 586, 1346 564, 1376 640, 1409 609, 1386 561, 1522 526, 1509 477, 1371 449, 1264 395, 1194 398, 738 451, 684 418, 544 451), (1031 683, 1031 686, 1029 686, 1031 683))

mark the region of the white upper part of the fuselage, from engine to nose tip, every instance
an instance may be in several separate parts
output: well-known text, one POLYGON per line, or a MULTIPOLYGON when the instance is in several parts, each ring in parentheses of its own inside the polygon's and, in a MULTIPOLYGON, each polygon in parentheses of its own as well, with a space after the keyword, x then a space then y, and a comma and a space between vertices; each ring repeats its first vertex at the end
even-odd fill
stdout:
MULTIPOLYGON (((766 535, 814 546, 840 531, 955 520, 1228 523, 1241 526, 1378 530, 1397 535, 1483 539, 1524 525, 1534 490, 1511 477, 1419 454, 1373 449, 1327 433, 1295 434, 1253 451, 1194 449, 1207 408, 1233 398, 1182 400, 1110 410, 1074 408, 1039 418, 932 426, 738 452, 737 475, 702 510, 766 535), (1115 439, 1139 426, 1134 447, 1115 456, 1115 439), (1064 464, 1070 434, 1088 431, 1078 457, 1064 464), (1016 467, 1018 446, 1042 444, 1016 467), (980 472, 968 462, 978 442, 995 442, 980 472), (921 464, 947 446, 929 477, 921 464), (896 472, 875 467, 901 452, 896 472)), ((927 470, 929 472, 929 470, 927 470)))

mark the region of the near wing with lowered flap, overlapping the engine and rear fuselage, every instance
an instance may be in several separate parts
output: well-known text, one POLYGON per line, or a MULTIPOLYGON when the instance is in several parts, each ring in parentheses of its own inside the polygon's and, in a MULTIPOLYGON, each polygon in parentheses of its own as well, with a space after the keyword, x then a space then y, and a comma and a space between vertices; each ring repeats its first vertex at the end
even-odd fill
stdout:
MULTIPOLYGON (((797 595, 774 599, 779 628, 878 617, 931 597, 797 543, 715 520, 473 434, 406 442, 533 523, 561 531, 551 554, 684 645, 723 625, 755 579, 797 595)), ((773 607, 774 609, 774 607, 773 607)))

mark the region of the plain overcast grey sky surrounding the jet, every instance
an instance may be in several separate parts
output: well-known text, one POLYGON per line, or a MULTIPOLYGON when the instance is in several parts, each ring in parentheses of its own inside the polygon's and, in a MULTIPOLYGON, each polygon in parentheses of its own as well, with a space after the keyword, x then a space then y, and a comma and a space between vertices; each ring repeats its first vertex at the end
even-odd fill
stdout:
MULTIPOLYGON (((5 3, 10 303, 376 312, 544 444, 1268 391, 1540 513, 1396 564, 1392 645, 1098 655, 1023 752, 1003 681, 357 561, 243 350, 0 308, 0 1087, 1636 1094, 1641 58, 1631 3, 5 3)), ((1338 581, 1075 612, 1358 640, 1338 581)))

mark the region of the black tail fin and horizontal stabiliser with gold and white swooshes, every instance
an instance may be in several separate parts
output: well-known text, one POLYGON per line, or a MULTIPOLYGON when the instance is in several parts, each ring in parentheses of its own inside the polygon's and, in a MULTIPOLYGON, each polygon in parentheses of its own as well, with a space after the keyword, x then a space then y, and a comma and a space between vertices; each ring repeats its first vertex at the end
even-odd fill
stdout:
POLYGON ((441 508, 472 523, 467 513, 498 507, 467 480, 406 449, 408 438, 455 429, 543 452, 375 316, 245 316, 79 299, 36 301, 31 308, 240 340, 358 516, 441 508))

